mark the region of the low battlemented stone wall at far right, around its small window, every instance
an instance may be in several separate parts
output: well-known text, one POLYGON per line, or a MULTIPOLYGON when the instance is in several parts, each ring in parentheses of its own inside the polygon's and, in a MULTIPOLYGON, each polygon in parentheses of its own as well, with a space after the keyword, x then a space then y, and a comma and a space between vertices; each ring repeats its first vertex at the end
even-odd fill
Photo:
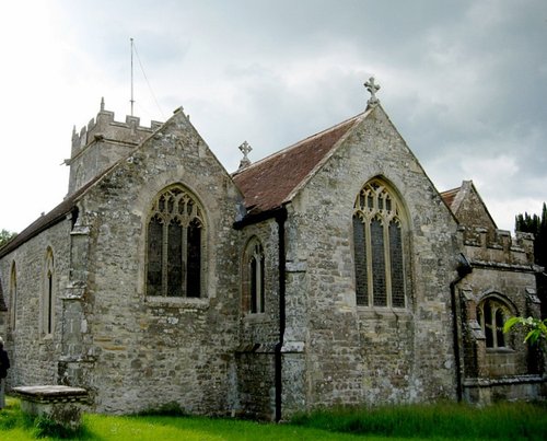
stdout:
POLYGON ((505 334, 502 347, 489 347, 477 312, 481 302, 493 299, 507 305, 508 315, 539 316, 533 237, 517 233, 512 239, 497 230, 489 241, 485 229, 466 229, 464 237, 464 253, 473 267, 458 286, 465 398, 484 404, 538 398, 544 360, 522 343, 524 329, 505 334))

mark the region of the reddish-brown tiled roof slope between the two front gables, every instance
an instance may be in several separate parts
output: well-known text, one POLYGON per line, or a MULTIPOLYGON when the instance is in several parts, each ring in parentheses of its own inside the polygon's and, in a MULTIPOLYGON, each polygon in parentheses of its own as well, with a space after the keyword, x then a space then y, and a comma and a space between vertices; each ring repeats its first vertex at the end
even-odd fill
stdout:
POLYGON ((233 179, 244 195, 247 216, 274 210, 289 201, 363 115, 312 135, 235 172, 233 179))

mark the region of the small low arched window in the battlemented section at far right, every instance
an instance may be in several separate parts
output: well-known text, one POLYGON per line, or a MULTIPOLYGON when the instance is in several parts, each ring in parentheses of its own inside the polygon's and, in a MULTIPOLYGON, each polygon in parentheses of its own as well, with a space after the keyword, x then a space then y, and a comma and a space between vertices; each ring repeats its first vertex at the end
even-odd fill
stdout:
POLYGON ((508 305, 498 298, 487 298, 477 306, 477 320, 486 337, 487 348, 507 348, 503 325, 511 316, 508 305))

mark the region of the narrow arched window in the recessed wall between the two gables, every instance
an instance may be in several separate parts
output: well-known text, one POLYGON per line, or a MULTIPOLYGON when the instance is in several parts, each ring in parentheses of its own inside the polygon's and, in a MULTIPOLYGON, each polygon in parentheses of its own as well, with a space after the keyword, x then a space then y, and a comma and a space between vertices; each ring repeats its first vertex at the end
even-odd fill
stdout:
POLYGON ((265 312, 265 262, 260 241, 253 237, 245 247, 243 257, 243 311, 265 312))

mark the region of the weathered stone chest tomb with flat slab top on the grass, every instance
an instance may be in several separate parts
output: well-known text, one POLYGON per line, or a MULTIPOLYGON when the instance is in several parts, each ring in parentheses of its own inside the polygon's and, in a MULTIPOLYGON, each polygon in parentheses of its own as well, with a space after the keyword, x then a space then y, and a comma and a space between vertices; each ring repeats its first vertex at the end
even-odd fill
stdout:
POLYGON ((46 417, 65 428, 75 430, 82 422, 82 404, 88 391, 61 385, 19 386, 12 392, 21 398, 21 410, 46 417))

